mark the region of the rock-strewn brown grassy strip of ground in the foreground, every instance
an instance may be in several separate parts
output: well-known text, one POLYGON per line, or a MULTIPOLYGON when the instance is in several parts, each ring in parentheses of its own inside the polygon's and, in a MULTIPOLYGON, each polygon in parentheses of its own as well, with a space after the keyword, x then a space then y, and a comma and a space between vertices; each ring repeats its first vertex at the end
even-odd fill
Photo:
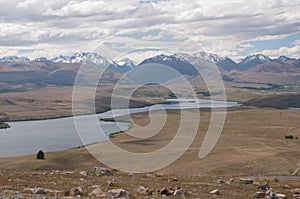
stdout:
POLYGON ((1 170, 0 198, 300 198, 299 178, 1 170))

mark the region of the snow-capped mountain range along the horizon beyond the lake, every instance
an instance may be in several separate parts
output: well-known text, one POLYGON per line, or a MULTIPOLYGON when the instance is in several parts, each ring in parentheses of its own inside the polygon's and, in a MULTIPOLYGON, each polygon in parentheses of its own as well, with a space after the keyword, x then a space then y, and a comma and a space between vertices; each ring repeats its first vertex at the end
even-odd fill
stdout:
POLYGON ((237 63, 229 57, 198 52, 192 55, 161 54, 136 63, 129 58, 113 61, 97 53, 77 52, 72 56, 60 55, 52 59, 40 57, 30 60, 18 56, 0 58, 0 91, 9 91, 17 85, 25 87, 28 84, 71 86, 81 64, 108 66, 104 75, 106 78, 103 78, 106 83, 115 82, 125 72, 149 63, 165 64, 183 75, 195 77, 199 74, 188 61, 195 57, 215 63, 226 81, 300 85, 300 59, 286 56, 272 59, 266 55, 255 54, 237 63))

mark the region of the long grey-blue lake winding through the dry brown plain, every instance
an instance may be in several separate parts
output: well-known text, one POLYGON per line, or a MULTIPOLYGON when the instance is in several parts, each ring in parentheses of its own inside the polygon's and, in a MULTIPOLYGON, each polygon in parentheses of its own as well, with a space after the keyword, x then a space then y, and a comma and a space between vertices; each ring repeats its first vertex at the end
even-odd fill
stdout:
MULTIPOLYGON (((140 113, 161 109, 193 109, 193 108, 218 108, 238 106, 236 102, 220 102, 210 100, 180 99, 167 100, 170 104, 153 105, 144 108, 118 109, 97 114, 97 118, 112 118, 112 115, 121 116, 129 113, 140 113)), ((104 134, 95 134, 93 122, 95 115, 76 116, 85 124, 85 143, 94 143, 108 139, 110 133, 125 131, 128 123, 105 122, 99 124, 104 134)), ((46 152, 69 149, 82 146, 76 131, 74 118, 59 118, 39 121, 9 122, 11 128, 0 129, 0 157, 12 157, 35 154, 40 149, 46 152)))

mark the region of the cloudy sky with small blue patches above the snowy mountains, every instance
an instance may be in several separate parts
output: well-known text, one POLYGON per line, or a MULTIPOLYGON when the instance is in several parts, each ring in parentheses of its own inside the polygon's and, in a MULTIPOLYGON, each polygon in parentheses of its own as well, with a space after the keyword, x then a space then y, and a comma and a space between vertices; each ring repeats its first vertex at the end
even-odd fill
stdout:
POLYGON ((108 37, 123 51, 126 42, 178 47, 188 38, 235 59, 300 57, 299 10, 295 0, 0 0, 0 57, 93 51, 108 37))

